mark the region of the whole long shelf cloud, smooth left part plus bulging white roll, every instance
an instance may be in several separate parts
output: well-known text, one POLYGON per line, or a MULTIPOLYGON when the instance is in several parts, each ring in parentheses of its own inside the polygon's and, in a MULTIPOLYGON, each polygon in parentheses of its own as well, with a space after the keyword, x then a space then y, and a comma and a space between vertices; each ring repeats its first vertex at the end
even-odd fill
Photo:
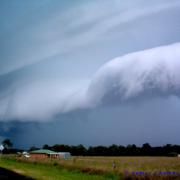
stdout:
POLYGON ((101 67, 90 84, 88 80, 67 80, 17 87, 1 100, 1 120, 47 121, 58 113, 133 104, 134 99, 172 99, 180 92, 179 69, 180 43, 130 53, 101 67))

